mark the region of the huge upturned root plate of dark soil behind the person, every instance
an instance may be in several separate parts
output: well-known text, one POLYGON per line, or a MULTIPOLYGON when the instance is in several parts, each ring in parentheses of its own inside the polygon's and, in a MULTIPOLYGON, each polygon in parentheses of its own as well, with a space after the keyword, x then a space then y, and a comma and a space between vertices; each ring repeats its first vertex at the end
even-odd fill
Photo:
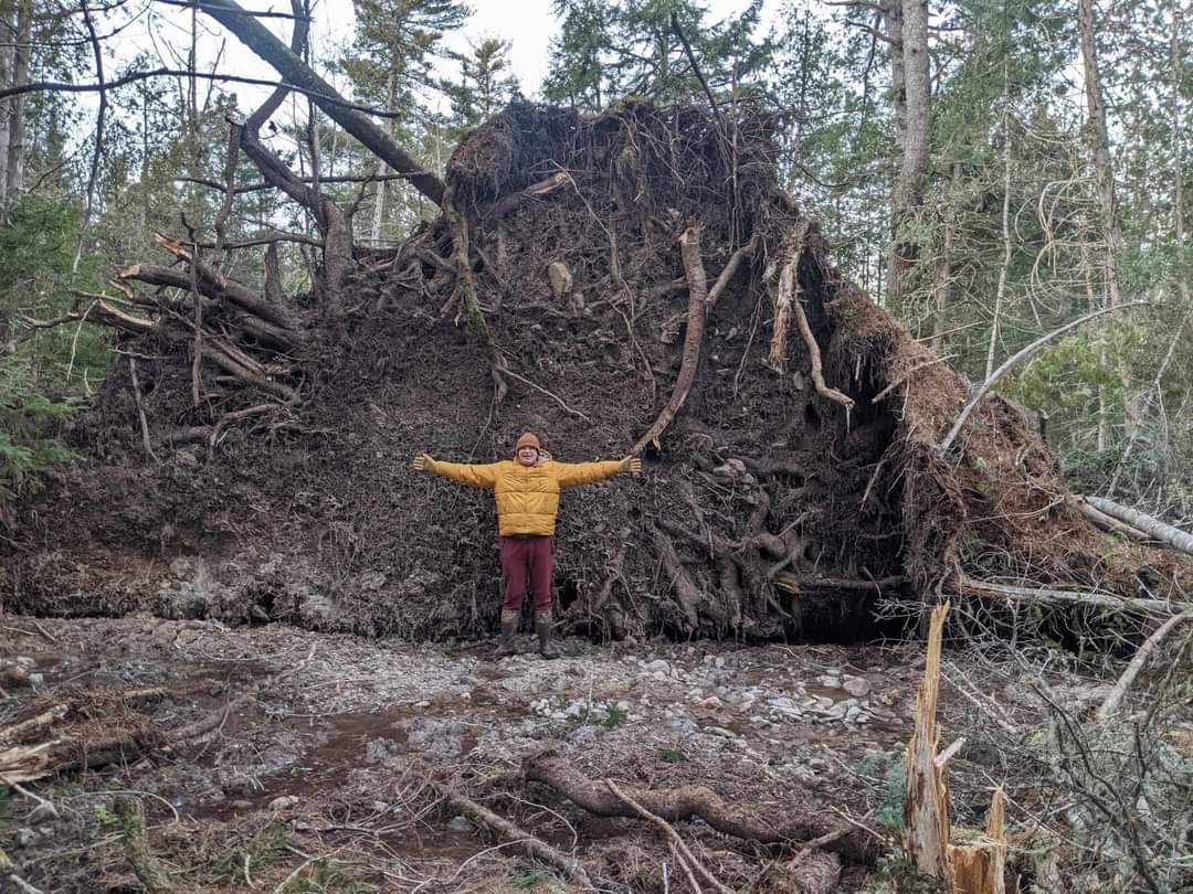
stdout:
POLYGON ((1168 597, 1175 564, 1088 524, 1006 402, 937 447, 966 383, 841 278, 771 129, 511 106, 452 156, 455 213, 357 252, 342 312, 286 302, 313 337, 270 378, 283 414, 210 370, 197 402, 191 358, 122 335, 138 387, 120 365, 86 462, 24 507, 7 608, 487 633, 492 496, 408 464, 503 459, 527 428, 569 461, 645 441, 642 478, 563 498, 573 633, 857 633, 880 594, 971 577, 1168 597))

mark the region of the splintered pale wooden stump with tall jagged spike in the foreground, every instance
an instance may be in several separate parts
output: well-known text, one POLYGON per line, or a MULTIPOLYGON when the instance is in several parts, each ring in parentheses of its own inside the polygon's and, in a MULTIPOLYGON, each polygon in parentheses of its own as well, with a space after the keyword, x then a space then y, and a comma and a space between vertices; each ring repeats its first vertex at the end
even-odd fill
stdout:
POLYGON ((954 830, 948 817, 948 759, 953 749, 937 755, 940 640, 947 614, 947 602, 932 613, 915 730, 907 745, 903 846, 908 862, 923 875, 939 879, 946 894, 1003 894, 1007 836, 1001 788, 994 793, 985 831, 956 830, 965 843, 951 843, 954 830))

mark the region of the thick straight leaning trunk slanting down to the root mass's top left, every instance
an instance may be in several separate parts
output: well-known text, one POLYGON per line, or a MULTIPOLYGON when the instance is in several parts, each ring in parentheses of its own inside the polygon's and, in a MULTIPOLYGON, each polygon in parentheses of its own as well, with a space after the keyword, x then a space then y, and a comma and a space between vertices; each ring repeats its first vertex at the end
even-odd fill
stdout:
POLYGON ((336 89, 320 77, 305 62, 291 52, 268 29, 246 15, 235 0, 198 0, 199 8, 239 37, 246 46, 268 62, 286 81, 309 91, 323 113, 359 139, 366 149, 384 159, 410 184, 437 205, 443 200, 443 181, 422 169, 397 143, 360 112, 350 108, 336 89))

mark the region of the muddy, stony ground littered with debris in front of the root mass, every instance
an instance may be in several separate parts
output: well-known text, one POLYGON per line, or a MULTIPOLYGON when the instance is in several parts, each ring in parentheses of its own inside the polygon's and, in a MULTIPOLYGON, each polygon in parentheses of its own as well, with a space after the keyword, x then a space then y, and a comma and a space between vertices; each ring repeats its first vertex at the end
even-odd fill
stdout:
MULTIPOLYGON (((922 672, 914 644, 569 639, 557 662, 494 660, 492 642, 410 645, 283 625, 0 621, 10 679, 27 672, 2 694, 0 730, 70 703, 93 741, 140 743, 103 769, 26 783, 52 811, 16 790, 0 802, 0 849, 47 893, 148 889, 113 813, 122 793, 143 803, 153 859, 178 890, 580 890, 444 809, 432 778, 573 853, 601 889, 665 890, 670 856, 659 831, 586 814, 521 777, 524 759, 548 751, 589 778, 638 789, 706 784, 775 822, 847 817, 889 845, 922 672), (147 744, 224 706, 200 740, 147 744)), ((1059 670, 1037 679, 1050 678, 1074 709, 1105 691, 1059 670)), ((953 766, 954 822, 979 822, 990 788, 1022 772, 990 747, 989 730, 994 716, 1028 731, 1040 721, 1025 673, 972 653, 946 660, 945 734, 969 737, 953 766)), ((798 848, 762 848, 699 820, 675 827, 735 890, 803 889, 784 881, 806 859, 798 848)), ((847 861, 836 889, 860 890, 871 875, 847 861)))

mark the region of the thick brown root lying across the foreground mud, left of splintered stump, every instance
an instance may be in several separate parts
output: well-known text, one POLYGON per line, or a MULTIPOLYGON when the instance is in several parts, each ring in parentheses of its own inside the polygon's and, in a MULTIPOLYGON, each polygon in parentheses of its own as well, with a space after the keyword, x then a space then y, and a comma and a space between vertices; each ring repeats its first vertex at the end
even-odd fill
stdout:
MULTIPOLYGON (((598 817, 639 815, 604 784, 582 776, 562 758, 527 758, 523 772, 527 781, 555 789, 598 817)), ((668 821, 701 819, 717 832, 760 844, 815 843, 848 863, 870 864, 878 855, 876 843, 867 832, 836 815, 759 817, 725 803, 721 795, 704 786, 657 790, 623 786, 622 789, 644 809, 668 821)))

